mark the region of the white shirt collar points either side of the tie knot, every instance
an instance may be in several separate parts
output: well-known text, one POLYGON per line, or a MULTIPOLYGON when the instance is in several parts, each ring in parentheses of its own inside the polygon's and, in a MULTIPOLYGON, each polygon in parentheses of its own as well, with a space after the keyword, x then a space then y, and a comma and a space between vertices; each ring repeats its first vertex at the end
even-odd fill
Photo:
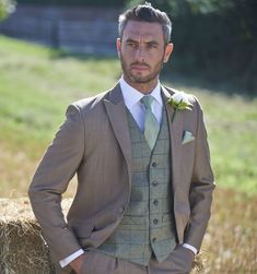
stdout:
MULTIPOLYGON (((121 93, 124 96, 125 105, 128 109, 131 109, 136 104, 140 102, 140 99, 144 96, 142 93, 130 86, 124 78, 119 80, 121 93)), ((160 106, 163 106, 162 95, 161 95, 161 84, 160 81, 157 81, 157 85, 153 88, 151 92, 151 95, 154 97, 154 99, 160 104, 160 106)))

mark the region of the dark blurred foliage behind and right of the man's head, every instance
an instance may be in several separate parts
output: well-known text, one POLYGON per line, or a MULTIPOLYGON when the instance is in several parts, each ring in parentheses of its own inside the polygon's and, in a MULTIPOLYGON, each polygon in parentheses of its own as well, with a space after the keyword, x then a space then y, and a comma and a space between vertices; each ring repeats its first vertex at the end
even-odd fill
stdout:
MULTIPOLYGON (((139 0, 17 0, 17 3, 128 7, 139 0)), ((173 22, 173 60, 165 68, 207 83, 257 90, 256 0, 152 0, 173 22)))

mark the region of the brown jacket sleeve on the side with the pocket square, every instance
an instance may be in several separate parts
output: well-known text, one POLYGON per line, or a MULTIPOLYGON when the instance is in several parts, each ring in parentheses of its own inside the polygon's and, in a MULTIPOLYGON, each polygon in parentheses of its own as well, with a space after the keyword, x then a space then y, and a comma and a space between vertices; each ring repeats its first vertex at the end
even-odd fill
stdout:
POLYGON ((184 240, 199 251, 211 215, 214 178, 210 165, 210 152, 202 109, 198 102, 196 104, 198 111, 197 143, 189 191, 190 217, 184 240))

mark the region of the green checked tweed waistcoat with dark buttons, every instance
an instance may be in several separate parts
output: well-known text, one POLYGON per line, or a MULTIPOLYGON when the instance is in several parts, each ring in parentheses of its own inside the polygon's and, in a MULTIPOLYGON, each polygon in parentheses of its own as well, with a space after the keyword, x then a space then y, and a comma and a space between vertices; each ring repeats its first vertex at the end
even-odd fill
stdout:
POLYGON ((130 202, 118 228, 98 250, 148 265, 152 253, 162 262, 176 245, 170 132, 163 111, 160 133, 151 151, 132 116, 127 114, 133 163, 130 202))

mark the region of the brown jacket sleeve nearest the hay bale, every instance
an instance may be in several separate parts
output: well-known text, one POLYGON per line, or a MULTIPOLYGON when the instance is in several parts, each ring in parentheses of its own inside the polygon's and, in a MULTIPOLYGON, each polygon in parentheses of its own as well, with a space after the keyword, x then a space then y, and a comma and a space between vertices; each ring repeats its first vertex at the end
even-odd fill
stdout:
POLYGON ((83 120, 79 108, 71 105, 66 121, 46 151, 28 189, 34 214, 57 261, 81 248, 67 226, 60 203, 83 154, 83 120))

